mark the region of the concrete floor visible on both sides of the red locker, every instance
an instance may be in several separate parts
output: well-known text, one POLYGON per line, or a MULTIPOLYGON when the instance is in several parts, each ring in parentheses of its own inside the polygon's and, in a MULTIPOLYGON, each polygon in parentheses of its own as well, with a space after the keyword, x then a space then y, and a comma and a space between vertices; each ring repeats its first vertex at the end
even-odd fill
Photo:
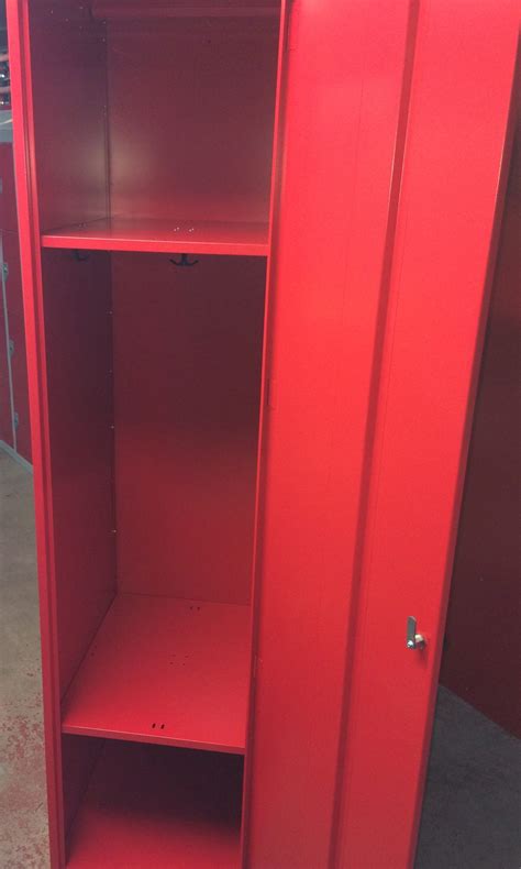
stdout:
MULTIPOLYGON (((41 704, 32 476, 0 451, 0 869, 48 867, 41 704)), ((520 746, 440 690, 415 869, 520 869, 520 746)))

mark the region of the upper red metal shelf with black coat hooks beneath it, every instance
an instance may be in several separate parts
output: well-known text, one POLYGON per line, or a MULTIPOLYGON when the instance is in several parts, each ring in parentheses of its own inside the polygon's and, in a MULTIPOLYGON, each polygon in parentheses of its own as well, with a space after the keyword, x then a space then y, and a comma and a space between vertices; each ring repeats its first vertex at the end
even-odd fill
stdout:
POLYGON ((89 251, 266 256, 268 224, 113 217, 44 232, 42 246, 89 251))

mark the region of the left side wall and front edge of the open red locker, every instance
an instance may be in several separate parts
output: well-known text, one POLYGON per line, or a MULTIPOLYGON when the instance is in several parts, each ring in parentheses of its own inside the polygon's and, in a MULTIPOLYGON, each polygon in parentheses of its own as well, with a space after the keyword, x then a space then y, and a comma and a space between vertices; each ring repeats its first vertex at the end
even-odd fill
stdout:
MULTIPOLYGON (((88 641, 102 615, 101 597, 107 604, 110 600, 114 579, 110 554, 113 540, 108 543, 101 539, 100 530, 106 532, 112 506, 110 404, 93 400, 89 406, 85 400, 86 395, 87 399, 93 397, 98 366, 103 372, 110 367, 110 331, 103 331, 96 317, 80 316, 88 307, 89 287, 71 271, 74 265, 80 268, 92 264, 77 263, 71 254, 62 268, 47 258, 44 284, 40 217, 48 227, 66 222, 73 213, 70 206, 75 218, 106 213, 106 76, 102 40, 98 32, 92 35, 85 18, 78 21, 76 14, 85 15, 85 7, 57 0, 31 4, 31 10, 35 13, 32 22, 27 0, 7 2, 32 424, 51 864, 53 869, 60 869, 65 864, 64 815, 74 811, 69 805, 64 812, 64 778, 66 793, 77 794, 81 785, 68 782, 68 772, 73 770, 73 778, 77 778, 79 768, 86 773, 88 770, 81 752, 75 760, 74 749, 67 751, 65 766, 62 763, 60 695, 85 652, 81 644, 88 641), (55 29, 49 16, 54 16, 55 29), (57 148, 52 145, 52 132, 53 136, 56 132, 57 148), (78 153, 82 155, 81 165, 78 153), (71 331, 64 340, 66 328, 71 331), (102 490, 107 498, 110 494, 110 504, 102 503, 102 490), (103 550, 101 570, 93 572, 98 546, 103 550), (82 588, 77 595, 75 586, 82 588), (69 604, 74 604, 71 617, 69 604)), ((100 275, 98 278, 99 284, 93 277, 96 292, 110 294, 110 274, 106 283, 100 275)), ((98 310, 104 312, 106 305, 99 297, 98 301, 98 310)), ((107 530, 109 536, 110 528, 107 530)))

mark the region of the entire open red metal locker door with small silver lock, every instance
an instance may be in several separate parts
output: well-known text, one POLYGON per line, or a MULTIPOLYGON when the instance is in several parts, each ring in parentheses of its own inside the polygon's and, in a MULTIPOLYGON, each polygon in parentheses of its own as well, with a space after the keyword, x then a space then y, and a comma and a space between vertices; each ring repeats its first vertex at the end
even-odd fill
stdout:
POLYGON ((517 28, 510 0, 291 10, 251 869, 413 861, 517 28))

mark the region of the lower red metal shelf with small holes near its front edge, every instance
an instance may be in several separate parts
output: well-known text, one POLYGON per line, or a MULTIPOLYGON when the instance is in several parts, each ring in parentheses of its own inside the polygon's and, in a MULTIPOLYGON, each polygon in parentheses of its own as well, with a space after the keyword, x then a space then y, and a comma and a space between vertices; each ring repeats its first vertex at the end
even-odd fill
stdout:
POLYGON ((250 607, 119 594, 63 704, 63 732, 244 754, 250 607))

